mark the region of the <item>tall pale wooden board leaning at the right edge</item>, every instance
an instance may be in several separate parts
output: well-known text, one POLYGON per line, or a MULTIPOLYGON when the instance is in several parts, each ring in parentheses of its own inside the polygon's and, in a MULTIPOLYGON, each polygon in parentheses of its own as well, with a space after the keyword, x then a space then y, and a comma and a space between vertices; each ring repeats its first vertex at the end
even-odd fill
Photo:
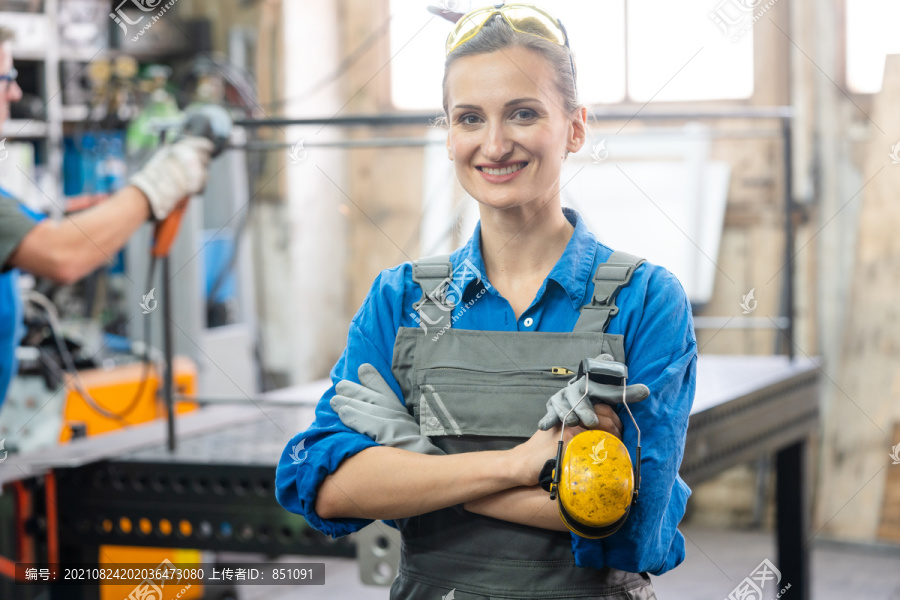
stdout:
POLYGON ((890 55, 884 86, 873 98, 869 136, 861 148, 858 237, 849 303, 835 323, 844 341, 824 424, 818 519, 840 538, 900 541, 896 465, 889 454, 900 423, 900 165, 888 156, 900 142, 900 55, 890 55), (879 131, 879 129, 881 131, 879 131), (883 132, 883 133, 882 133, 883 132))

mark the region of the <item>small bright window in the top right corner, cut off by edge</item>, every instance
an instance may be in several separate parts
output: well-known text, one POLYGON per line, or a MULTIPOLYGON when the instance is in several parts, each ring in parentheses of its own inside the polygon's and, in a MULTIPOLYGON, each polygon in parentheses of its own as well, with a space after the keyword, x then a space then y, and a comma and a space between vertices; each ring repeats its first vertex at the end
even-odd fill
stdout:
POLYGON ((881 90, 884 57, 900 52, 897 0, 846 0, 847 87, 860 94, 881 90))

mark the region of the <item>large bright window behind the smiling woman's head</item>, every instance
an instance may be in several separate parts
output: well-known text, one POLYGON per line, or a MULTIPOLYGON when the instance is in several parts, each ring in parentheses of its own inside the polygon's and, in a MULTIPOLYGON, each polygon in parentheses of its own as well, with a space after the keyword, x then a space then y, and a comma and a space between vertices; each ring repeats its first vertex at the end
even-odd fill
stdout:
MULTIPOLYGON (((444 42, 453 24, 426 11, 428 4, 437 5, 438 0, 390 1, 394 105, 404 110, 439 109, 444 42)), ((543 6, 569 32, 580 100, 610 104, 749 97, 753 36, 747 33, 747 25, 763 5, 760 0, 724 2, 627 0, 627 15, 626 0, 563 0, 543 6), (722 6, 751 1, 757 4, 752 10, 722 6), (713 18, 717 11, 727 25, 713 18), (744 34, 738 36, 742 27, 744 34)), ((488 5, 478 0, 445 0, 443 4, 458 12, 488 5)))

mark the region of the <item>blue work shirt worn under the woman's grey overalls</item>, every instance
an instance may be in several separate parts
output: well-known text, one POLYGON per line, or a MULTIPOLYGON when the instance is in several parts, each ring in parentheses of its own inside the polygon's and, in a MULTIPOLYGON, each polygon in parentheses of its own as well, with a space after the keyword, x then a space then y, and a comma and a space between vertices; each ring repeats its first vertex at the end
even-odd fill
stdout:
MULTIPOLYGON (((460 286, 464 302, 454 309, 453 327, 481 331, 573 330, 581 307, 592 298, 597 265, 606 262, 613 250, 597 241, 575 211, 563 211, 575 231, 531 306, 516 319, 509 302, 493 286, 473 279, 460 286), (485 287, 486 293, 481 293, 485 287), (468 300, 479 293, 478 301, 469 306, 468 300)), ((469 260, 486 280, 480 233, 479 223, 468 243, 451 255, 451 262, 459 265, 469 260)), ((454 276, 463 271, 456 270, 454 276)), ((334 385, 342 379, 359 382, 357 369, 370 363, 403 398, 391 373, 391 357, 398 328, 418 327, 412 305, 421 296, 409 262, 378 275, 350 322, 347 348, 331 371, 333 385, 319 401, 315 421, 294 436, 279 461, 275 476, 278 502, 333 537, 357 531, 372 521, 319 518, 315 513, 318 486, 344 459, 377 445, 345 426, 332 410, 329 401, 335 393, 334 385), (301 442, 299 447, 306 453, 302 455, 294 451, 301 442)), ((678 468, 694 399, 694 324, 681 283, 665 268, 650 263, 635 270, 631 283, 619 292, 616 305, 619 313, 606 331, 624 335, 628 383, 643 383, 650 389, 650 397, 631 408, 641 428, 640 497, 618 532, 600 540, 572 534, 572 551, 580 567, 661 575, 679 565, 685 554, 684 537, 677 526, 690 489, 679 477, 678 468)), ((634 460, 637 433, 627 414, 620 418, 623 442, 634 460)))

